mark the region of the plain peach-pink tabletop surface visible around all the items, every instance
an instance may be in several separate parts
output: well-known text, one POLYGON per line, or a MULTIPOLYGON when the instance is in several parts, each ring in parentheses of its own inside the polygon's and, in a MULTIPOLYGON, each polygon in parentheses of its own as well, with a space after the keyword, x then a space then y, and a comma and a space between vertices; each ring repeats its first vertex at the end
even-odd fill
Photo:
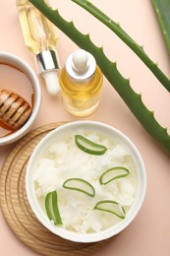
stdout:
MULTIPOLYGON (((131 79, 133 88, 142 93, 142 98, 150 110, 154 110, 157 120, 170 133, 170 96, 142 61, 112 32, 91 18, 80 7, 68 0, 53 0, 61 14, 74 20, 82 32, 90 32, 91 38, 111 60, 116 60, 118 69, 131 79)), ((162 34, 149 0, 92 1, 118 21, 126 32, 143 45, 146 53, 159 64, 170 77, 170 60, 162 34)), ((25 46, 20 29, 14 0, 1 1, 0 7, 0 50, 17 54, 32 67, 33 56, 25 46)), ((77 46, 59 32, 58 45, 61 64, 77 46)), ((61 96, 47 95, 43 81, 42 104, 34 127, 56 121, 70 121, 71 116, 62 106, 61 96)), ((3 85, 0 85, 0 89, 3 85)), ((169 256, 170 255, 170 159, 142 129, 131 111, 109 83, 104 80, 101 103, 98 110, 84 119, 108 123, 124 132, 139 148, 147 172, 147 191, 142 210, 135 221, 95 256, 169 256)), ((0 148, 0 167, 14 145, 0 148)), ((0 212, 0 255, 35 256, 37 253, 26 247, 10 230, 0 212)))

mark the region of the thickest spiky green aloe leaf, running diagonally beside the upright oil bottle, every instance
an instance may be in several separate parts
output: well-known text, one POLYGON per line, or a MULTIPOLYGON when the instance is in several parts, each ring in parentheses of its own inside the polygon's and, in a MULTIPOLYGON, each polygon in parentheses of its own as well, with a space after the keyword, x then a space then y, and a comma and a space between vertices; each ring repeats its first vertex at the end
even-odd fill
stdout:
POLYGON ((73 22, 64 20, 58 10, 49 8, 43 0, 29 0, 47 19, 59 30, 69 36, 78 46, 93 54, 104 76, 125 101, 127 106, 145 128, 147 133, 156 140, 164 151, 170 155, 170 136, 167 129, 163 128, 154 118, 152 111, 148 110, 142 102, 142 96, 137 94, 117 69, 116 63, 111 62, 89 38, 89 34, 79 32, 73 22))

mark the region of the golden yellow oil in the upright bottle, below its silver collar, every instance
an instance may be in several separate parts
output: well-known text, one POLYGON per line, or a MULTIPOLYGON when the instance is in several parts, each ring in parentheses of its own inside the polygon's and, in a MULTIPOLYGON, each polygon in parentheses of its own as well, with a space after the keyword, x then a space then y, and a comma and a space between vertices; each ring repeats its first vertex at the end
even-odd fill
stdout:
POLYGON ((63 104, 68 112, 75 116, 87 116, 93 113, 100 101, 102 81, 98 67, 93 77, 84 83, 70 79, 66 70, 63 69, 60 75, 60 86, 63 104))

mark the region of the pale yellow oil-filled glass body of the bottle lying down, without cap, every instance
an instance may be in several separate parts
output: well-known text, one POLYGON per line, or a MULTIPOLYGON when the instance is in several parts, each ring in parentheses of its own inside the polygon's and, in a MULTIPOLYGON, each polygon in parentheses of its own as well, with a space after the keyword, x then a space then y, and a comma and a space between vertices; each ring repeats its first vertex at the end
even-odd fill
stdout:
MULTIPOLYGON (((45 2, 48 4, 47 0, 45 2)), ((55 48, 58 42, 56 28, 28 0, 18 0, 17 6, 28 49, 37 54, 55 48)))

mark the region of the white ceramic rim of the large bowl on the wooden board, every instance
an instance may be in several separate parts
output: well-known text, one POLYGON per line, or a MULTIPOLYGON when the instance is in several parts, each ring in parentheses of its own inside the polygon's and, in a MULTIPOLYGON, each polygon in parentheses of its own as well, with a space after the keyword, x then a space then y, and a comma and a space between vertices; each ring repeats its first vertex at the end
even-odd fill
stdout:
MULTIPOLYGON (((46 171, 48 171, 48 169, 46 171)), ((135 217, 137 216, 142 207, 142 202, 145 195, 146 174, 142 157, 139 151, 137 150, 135 145, 130 141, 130 139, 127 138, 127 136, 125 136, 122 132, 118 131, 117 129, 109 125, 95 121, 75 121, 68 124, 64 124, 63 126, 60 126, 57 129, 53 130, 48 135, 46 135, 36 146, 28 161, 28 168, 26 174, 26 189, 28 195, 28 202, 33 213, 35 214, 36 218, 40 221, 40 223, 46 226, 46 228, 48 228, 49 230, 51 230, 51 232, 75 242, 96 242, 103 239, 107 239, 119 233, 125 227, 131 224, 131 222, 135 219, 135 217), (36 168, 36 163, 41 158, 41 155, 43 154, 44 150, 47 149, 54 141, 57 141, 63 133, 73 132, 76 131, 78 128, 84 128, 84 130, 88 131, 92 129, 92 131, 94 130, 98 132, 104 132, 106 135, 116 139, 116 141, 120 142, 130 152, 135 162, 137 171, 138 185, 136 196, 133 205, 131 206, 129 212, 127 213, 126 218, 119 222, 118 224, 111 226, 110 228, 95 233, 77 233, 66 230, 60 226, 55 226, 54 224, 51 224, 46 214, 41 210, 41 207, 38 204, 32 180, 33 171, 36 168)))

